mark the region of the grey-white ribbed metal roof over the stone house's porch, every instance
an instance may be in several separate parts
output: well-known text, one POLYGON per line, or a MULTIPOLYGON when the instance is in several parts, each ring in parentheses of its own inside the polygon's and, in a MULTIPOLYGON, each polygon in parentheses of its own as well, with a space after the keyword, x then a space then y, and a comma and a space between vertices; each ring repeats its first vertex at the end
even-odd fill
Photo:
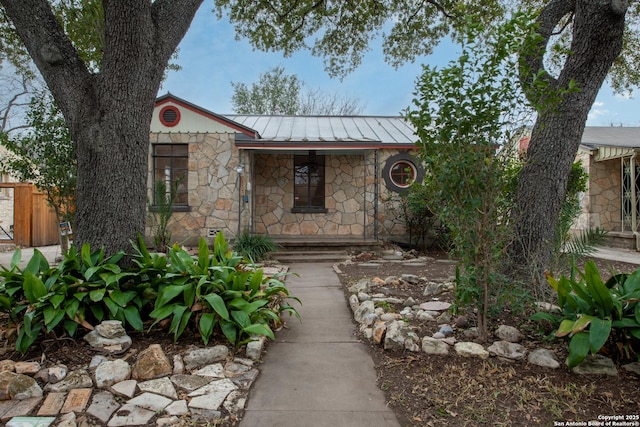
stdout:
MULTIPOLYGON (((305 145, 414 146, 414 128, 402 117, 394 116, 264 116, 225 115, 229 120, 255 130, 260 146, 305 145)), ((243 141, 244 145, 251 145, 243 141)), ((256 145, 256 144, 254 144, 256 145)))

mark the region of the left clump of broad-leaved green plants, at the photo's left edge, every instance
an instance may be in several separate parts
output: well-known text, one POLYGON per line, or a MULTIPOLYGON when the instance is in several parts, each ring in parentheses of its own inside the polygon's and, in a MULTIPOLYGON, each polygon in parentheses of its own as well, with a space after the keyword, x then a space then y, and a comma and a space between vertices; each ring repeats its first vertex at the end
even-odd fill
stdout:
POLYGON ((88 244, 78 253, 71 247, 57 267, 34 250, 24 270, 19 268, 20 250, 10 267, 2 267, 0 306, 15 327, 16 349, 25 353, 41 333, 74 336, 78 326, 92 329, 105 319, 118 319, 141 330, 142 298, 126 289, 135 274, 123 272, 119 252, 106 258, 104 251, 91 252, 88 244))

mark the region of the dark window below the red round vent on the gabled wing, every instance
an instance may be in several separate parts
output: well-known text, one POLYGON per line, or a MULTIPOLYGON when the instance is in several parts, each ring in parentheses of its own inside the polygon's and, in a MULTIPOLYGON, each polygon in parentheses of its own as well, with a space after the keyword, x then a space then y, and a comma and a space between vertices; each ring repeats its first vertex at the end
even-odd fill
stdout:
MULTIPOLYGON (((153 194, 156 194, 156 183, 165 183, 167 192, 176 189, 174 209, 181 210, 189 205, 187 193, 189 175, 188 144, 154 144, 153 145, 153 194)), ((156 201, 153 201, 156 205, 156 201)))

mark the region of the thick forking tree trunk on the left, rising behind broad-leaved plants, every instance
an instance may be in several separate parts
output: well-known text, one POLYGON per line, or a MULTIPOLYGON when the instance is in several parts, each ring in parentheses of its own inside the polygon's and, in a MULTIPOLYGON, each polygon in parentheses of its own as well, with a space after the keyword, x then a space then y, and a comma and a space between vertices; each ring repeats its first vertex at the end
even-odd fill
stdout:
MULTIPOLYGON (((69 125, 78 160, 76 245, 130 250, 144 232, 149 125, 168 61, 202 0, 104 0, 91 73, 46 0, 0 0, 69 125)), ((89 29, 88 29, 89 30, 89 29)))

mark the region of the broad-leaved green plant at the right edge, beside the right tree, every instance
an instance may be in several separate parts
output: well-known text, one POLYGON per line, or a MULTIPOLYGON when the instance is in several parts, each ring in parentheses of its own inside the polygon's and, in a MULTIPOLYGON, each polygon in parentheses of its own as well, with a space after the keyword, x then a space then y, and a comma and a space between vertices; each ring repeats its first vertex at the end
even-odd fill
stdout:
POLYGON ((604 282, 591 260, 584 272, 577 270, 567 278, 547 281, 558 296, 560 313, 536 313, 534 320, 546 320, 557 326, 556 337, 569 337, 567 366, 579 365, 591 353, 596 354, 611 339, 631 356, 640 341, 640 269, 619 274, 604 282))

